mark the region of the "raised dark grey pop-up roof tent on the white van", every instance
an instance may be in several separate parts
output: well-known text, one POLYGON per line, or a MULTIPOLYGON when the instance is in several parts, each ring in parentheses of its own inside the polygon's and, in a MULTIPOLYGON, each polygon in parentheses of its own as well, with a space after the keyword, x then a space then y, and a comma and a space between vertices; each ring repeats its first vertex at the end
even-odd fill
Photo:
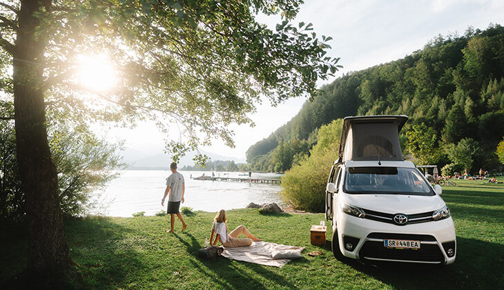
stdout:
POLYGON ((403 161, 399 131, 408 117, 345 117, 340 140, 340 161, 403 161))

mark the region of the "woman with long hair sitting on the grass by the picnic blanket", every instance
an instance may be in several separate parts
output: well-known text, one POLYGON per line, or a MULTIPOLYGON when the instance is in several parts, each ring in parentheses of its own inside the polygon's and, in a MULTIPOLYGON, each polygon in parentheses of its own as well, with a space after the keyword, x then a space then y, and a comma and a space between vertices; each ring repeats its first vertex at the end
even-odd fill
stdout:
POLYGON ((228 233, 229 229, 226 224, 226 211, 221 209, 217 215, 215 215, 215 219, 213 219, 212 225, 212 235, 210 236, 210 244, 217 244, 217 240, 220 240, 222 246, 224 247, 244 247, 250 246, 252 242, 260 242, 262 240, 255 237, 255 235, 251 234, 248 229, 242 224, 234 229, 231 233, 228 233), (246 238, 238 239, 238 236, 244 234, 246 238), (216 234, 216 235, 215 235, 216 234), (213 240, 213 235, 215 235, 215 240, 213 240))

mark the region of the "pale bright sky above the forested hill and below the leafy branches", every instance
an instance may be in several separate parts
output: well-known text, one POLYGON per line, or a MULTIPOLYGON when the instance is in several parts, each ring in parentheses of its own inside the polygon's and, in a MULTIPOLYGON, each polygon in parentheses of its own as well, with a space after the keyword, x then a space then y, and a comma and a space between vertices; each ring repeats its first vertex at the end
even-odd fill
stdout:
MULTIPOLYGON (((332 47, 327 55, 340 57, 343 68, 336 76, 319 81, 319 86, 334 81, 344 73, 401 59, 420 50, 437 35, 463 35, 469 26, 484 30, 490 23, 504 25, 504 0, 305 0, 293 23, 313 23, 317 35, 330 36, 332 47)), ((258 16, 270 28, 280 17, 258 16)), ((251 115, 255 127, 231 126, 235 148, 215 140, 202 150, 245 160, 247 149, 287 123, 302 107, 306 97, 289 99, 277 107, 268 101, 251 115)), ((113 133, 125 139, 135 151, 162 153, 165 136, 155 124, 142 123, 137 128, 118 129, 113 133)), ((178 136, 174 136, 177 139, 178 136)))

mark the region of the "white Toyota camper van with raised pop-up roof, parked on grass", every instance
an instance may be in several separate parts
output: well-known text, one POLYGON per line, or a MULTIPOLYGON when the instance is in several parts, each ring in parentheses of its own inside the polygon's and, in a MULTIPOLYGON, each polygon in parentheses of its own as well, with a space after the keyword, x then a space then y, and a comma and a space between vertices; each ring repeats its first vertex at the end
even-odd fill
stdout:
POLYGON ((326 191, 336 258, 451 264, 452 217, 415 165, 403 159, 400 116, 346 117, 326 191))

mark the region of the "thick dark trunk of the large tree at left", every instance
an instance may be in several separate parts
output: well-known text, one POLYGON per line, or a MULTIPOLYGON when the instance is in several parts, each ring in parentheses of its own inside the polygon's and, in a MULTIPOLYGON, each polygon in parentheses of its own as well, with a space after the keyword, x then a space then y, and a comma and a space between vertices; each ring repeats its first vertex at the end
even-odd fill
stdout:
POLYGON ((14 48, 14 109, 17 162, 26 195, 31 273, 68 269, 70 255, 59 206, 57 171, 48 146, 43 102, 43 31, 33 12, 49 10, 50 0, 21 1, 14 48))

